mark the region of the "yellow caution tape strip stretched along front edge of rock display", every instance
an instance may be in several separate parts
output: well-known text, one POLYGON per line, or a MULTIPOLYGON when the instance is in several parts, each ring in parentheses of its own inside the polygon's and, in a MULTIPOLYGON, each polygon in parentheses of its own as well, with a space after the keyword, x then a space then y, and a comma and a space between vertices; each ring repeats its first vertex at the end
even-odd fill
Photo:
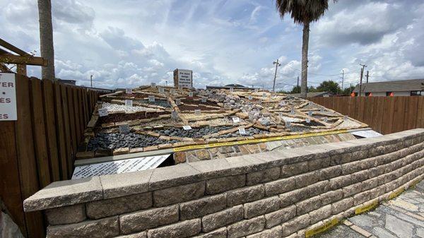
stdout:
POLYGON ((245 141, 231 141, 231 142, 220 142, 220 143, 211 143, 211 144, 205 144, 205 145, 187 145, 182 146, 179 148, 173 148, 174 152, 179 151, 185 151, 185 150, 199 150, 199 149, 206 149, 206 148, 215 148, 215 147, 221 147, 221 146, 232 146, 232 145, 245 145, 245 144, 253 144, 253 143, 264 143, 269 141, 282 141, 282 140, 290 140, 290 139, 296 139, 296 138, 307 138, 312 136, 327 136, 327 135, 334 135, 339 133, 346 133, 348 130, 337 130, 337 131, 322 131, 317 133, 305 133, 305 134, 299 134, 299 135, 290 135, 290 136, 276 136, 276 137, 270 137, 270 138, 261 138, 261 139, 252 139, 252 140, 245 140, 245 141))

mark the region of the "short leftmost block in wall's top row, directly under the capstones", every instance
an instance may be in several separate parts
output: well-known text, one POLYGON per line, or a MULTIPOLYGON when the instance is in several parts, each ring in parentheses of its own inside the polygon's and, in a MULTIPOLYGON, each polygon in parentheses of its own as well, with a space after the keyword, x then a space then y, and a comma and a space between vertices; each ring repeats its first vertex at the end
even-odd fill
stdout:
POLYGON ((77 204, 46 210, 49 225, 65 225, 86 220, 86 206, 77 204))

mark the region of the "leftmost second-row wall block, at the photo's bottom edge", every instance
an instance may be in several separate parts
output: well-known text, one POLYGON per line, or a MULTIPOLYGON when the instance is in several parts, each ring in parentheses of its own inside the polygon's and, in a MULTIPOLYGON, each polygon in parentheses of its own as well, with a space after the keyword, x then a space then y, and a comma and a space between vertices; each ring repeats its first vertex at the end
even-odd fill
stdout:
POLYGON ((48 238, 116 237, 119 234, 118 217, 88 220, 69 225, 51 225, 47 227, 48 238))

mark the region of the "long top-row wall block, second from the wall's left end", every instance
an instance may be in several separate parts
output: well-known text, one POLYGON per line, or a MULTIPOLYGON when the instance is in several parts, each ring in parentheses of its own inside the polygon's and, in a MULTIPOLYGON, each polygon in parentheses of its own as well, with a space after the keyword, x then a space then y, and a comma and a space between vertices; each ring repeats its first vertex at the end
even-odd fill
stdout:
POLYGON ((119 198, 93 201, 87 203, 86 208, 88 218, 99 219, 151 208, 152 205, 152 193, 147 192, 143 194, 134 194, 119 198))

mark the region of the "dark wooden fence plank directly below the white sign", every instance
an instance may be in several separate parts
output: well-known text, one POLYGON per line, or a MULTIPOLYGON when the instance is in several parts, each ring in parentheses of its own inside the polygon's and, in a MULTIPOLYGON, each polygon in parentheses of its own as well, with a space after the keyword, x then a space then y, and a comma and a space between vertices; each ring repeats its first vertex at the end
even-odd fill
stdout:
POLYGON ((0 135, 0 197, 22 234, 26 234, 16 151, 15 121, 0 121, 0 135))

